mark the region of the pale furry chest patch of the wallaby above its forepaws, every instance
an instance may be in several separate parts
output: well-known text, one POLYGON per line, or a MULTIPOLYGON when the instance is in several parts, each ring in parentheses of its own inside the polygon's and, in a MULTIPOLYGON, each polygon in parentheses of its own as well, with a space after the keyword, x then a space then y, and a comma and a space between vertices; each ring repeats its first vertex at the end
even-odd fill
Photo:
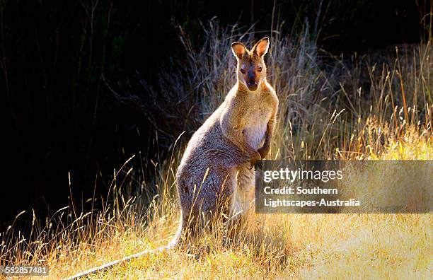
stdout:
POLYGON ((265 104, 258 104, 248 109, 245 116, 245 134, 248 144, 256 150, 262 146, 265 140, 267 123, 269 122, 272 110, 265 104))

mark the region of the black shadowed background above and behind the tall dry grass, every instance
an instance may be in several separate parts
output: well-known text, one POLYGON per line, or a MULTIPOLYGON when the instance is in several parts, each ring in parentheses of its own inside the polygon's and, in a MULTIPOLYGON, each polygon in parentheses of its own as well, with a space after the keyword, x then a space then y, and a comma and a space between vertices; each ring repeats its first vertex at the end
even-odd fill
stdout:
MULTIPOLYGON (((269 35, 272 13, 292 32, 321 8, 318 45, 333 54, 420 42, 429 1, 4 1, 0 92, 6 139, 0 230, 21 210, 47 214, 68 204, 71 173, 77 204, 105 194, 114 168, 141 152, 156 155, 154 128, 119 105, 112 88, 156 81, 161 65, 185 56, 173 23, 195 44, 201 22, 256 23, 269 35), (422 10, 424 9, 424 10, 422 10)), ((145 96, 143 97, 145 98, 145 96)))

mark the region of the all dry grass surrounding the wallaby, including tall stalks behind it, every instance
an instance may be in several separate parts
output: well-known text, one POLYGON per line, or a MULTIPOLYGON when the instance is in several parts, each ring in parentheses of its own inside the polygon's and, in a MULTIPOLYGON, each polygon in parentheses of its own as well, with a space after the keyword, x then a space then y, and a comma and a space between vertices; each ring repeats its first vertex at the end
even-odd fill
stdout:
MULTIPOLYGON (((163 71, 158 85, 142 82, 147 101, 118 96, 146 112, 162 143, 190 134, 219 105, 235 79, 229 44, 252 36, 217 23, 206 30, 200 49, 180 33, 187 56, 181 67, 163 71)), ((309 38, 305 31, 271 39, 268 79, 281 107, 270 158, 433 158, 430 42, 325 62, 309 38)), ((30 236, 13 226, 1 233, 0 264, 47 264, 57 279, 166 245, 178 225, 173 189, 182 146, 172 145, 171 158, 154 165, 142 199, 125 193, 139 173, 131 161, 117 171, 102 209, 83 214, 71 204, 46 221, 35 218, 30 236)), ((431 213, 250 213, 229 247, 214 231, 91 278, 431 279, 432 225, 431 213)))

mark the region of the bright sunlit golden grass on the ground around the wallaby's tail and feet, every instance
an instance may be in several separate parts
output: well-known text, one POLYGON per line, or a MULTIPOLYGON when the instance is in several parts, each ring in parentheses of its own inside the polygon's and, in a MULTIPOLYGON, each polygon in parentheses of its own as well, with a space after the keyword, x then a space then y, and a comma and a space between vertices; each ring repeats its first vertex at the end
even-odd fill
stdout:
MULTIPOLYGON (((416 155, 432 154, 431 141, 417 140, 391 145, 381 158, 417 159, 416 155)), ((167 193, 161 193, 163 199, 155 199, 143 217, 137 215, 136 204, 117 202, 96 218, 76 218, 70 228, 53 231, 58 237, 35 238, 35 243, 46 244, 11 244, 16 263, 28 262, 31 254, 33 264, 39 260, 49 265, 50 278, 60 279, 166 245, 176 231, 178 210, 168 194, 173 173, 162 177, 167 193), (25 252, 28 249, 32 251, 25 252)), ((223 245, 221 231, 214 231, 187 240, 178 249, 139 257, 89 279, 429 279, 432 227, 431 213, 250 213, 229 246, 223 245)))

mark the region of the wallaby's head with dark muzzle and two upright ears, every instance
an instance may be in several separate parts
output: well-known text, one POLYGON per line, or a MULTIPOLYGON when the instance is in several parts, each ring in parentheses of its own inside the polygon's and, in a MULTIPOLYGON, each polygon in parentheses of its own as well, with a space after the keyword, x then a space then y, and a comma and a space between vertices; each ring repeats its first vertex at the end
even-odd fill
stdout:
POLYGON ((266 66, 263 57, 269 48, 269 38, 258 41, 251 50, 240 42, 233 42, 231 50, 238 60, 238 81, 248 90, 255 91, 266 78, 266 66))

